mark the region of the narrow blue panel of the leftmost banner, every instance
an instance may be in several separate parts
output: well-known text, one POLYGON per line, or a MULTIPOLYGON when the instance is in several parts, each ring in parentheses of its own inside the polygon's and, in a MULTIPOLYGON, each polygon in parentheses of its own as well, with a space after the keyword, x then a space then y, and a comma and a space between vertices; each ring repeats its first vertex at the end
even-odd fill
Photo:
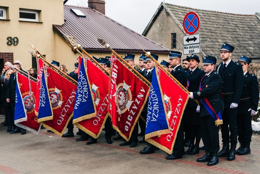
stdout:
POLYGON ((16 78, 16 95, 15 95, 15 111, 14 111, 14 123, 19 123, 21 121, 27 120, 26 111, 23 107, 22 94, 19 90, 18 76, 16 78))

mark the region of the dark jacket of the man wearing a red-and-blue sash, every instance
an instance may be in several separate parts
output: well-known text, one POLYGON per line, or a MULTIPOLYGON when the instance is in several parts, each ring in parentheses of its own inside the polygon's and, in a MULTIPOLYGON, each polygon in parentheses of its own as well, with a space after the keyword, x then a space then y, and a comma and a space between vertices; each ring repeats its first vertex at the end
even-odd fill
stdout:
MULTIPOLYGON (((193 92, 194 99, 207 98, 216 113, 224 108, 221 89, 221 77, 213 70, 208 76, 204 76, 201 82, 202 90, 193 92)), ((200 105, 200 117, 210 115, 204 105, 200 105)))

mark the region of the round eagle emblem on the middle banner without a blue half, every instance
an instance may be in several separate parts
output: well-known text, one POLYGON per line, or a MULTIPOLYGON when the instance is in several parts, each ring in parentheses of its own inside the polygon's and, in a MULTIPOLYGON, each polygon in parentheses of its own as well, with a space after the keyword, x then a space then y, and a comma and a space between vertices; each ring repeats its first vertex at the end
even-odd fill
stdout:
POLYGON ((125 113, 126 110, 129 110, 132 103, 132 93, 130 90, 131 86, 125 83, 119 83, 117 86, 117 94, 115 97, 116 105, 117 105, 117 112, 119 114, 125 113))

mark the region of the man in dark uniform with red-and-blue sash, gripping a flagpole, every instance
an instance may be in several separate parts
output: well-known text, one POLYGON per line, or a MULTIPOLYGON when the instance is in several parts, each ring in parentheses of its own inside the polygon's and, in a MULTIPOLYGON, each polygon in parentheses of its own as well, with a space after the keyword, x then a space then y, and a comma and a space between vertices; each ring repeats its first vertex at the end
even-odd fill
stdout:
POLYGON ((203 104, 200 105, 200 128, 201 137, 204 143, 206 154, 197 159, 197 162, 207 162, 208 165, 218 164, 218 150, 219 150, 219 125, 215 123, 217 120, 216 114, 210 114, 209 111, 215 111, 220 113, 223 111, 223 100, 221 96, 222 80, 221 77, 215 72, 215 64, 217 62, 216 57, 206 56, 203 60, 203 69, 206 75, 202 78, 199 85, 200 90, 197 92, 191 92, 190 98, 202 99, 203 104), (209 104, 206 104, 209 103, 209 104), (213 110, 209 107, 211 106, 213 110))

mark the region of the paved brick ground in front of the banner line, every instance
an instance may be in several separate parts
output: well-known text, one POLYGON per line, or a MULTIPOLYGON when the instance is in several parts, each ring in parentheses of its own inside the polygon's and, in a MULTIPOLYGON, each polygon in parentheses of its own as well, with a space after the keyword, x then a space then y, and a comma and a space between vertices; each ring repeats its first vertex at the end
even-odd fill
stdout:
MULTIPOLYGON (((0 123, 3 121, 4 117, 0 117, 0 123)), ((197 158, 204 155, 204 151, 185 155, 179 160, 166 160, 167 154, 163 150, 154 154, 139 154, 146 143, 138 144, 135 148, 118 146, 121 140, 107 144, 104 131, 98 143, 86 145, 87 141, 75 141, 80 137, 76 135, 78 128, 74 128, 73 138, 59 137, 47 132, 47 129, 42 129, 39 135, 30 131, 26 135, 9 134, 6 129, 6 126, 0 125, 0 174, 260 173, 260 135, 257 134, 252 136, 251 154, 236 155, 234 161, 222 157, 218 165, 207 166, 206 162, 196 162, 197 158)), ((221 133, 219 135, 221 139, 221 133)))

